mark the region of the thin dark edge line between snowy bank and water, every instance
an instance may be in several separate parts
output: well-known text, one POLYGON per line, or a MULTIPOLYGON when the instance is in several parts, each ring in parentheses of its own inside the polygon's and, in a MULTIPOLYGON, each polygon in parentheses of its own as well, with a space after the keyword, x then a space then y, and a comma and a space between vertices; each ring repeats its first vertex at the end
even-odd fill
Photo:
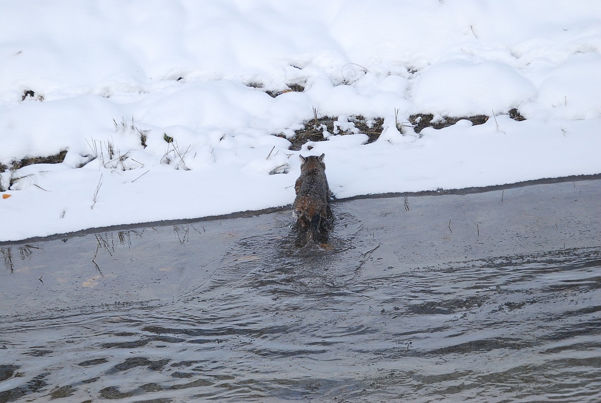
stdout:
MULTIPOLYGON (((520 187, 537 186, 542 184, 553 184, 553 183, 566 183, 566 182, 577 182, 577 181, 599 181, 599 193, 601 196, 601 174, 593 175, 572 175, 569 177, 560 178, 542 178, 537 180, 528 180, 511 184, 504 185, 492 185, 483 187, 466 187, 463 189, 439 189, 439 190, 422 190, 419 192, 404 192, 404 193, 378 193, 372 195, 358 195, 351 196, 344 199, 334 199, 331 201, 332 204, 343 203, 346 201, 353 201, 358 199, 380 199, 380 198, 409 198, 409 197, 421 197, 421 196, 445 196, 445 195, 462 195, 468 196, 477 193, 486 192, 497 192, 499 190, 517 189, 520 187)), ((221 214, 219 216, 205 216, 198 218, 188 219, 175 219, 175 220, 159 220, 153 222, 141 222, 132 224, 119 224, 111 226, 102 226, 97 228, 86 228, 78 231, 66 232, 63 234, 52 234, 46 237, 31 237, 23 240, 10 240, 0 241, 0 246, 13 246, 25 243, 45 242, 57 239, 69 239, 73 237, 83 237, 85 235, 99 233, 99 232, 111 232, 111 231, 131 231, 135 229, 151 228, 154 226, 168 226, 168 225, 183 225, 183 224, 194 224, 202 223, 214 220, 224 219, 236 219, 243 217, 252 217, 260 214, 275 213, 276 211, 290 210, 290 225, 293 224, 294 220, 291 215, 291 205, 284 205, 278 207, 263 208, 261 210, 247 210, 247 211, 236 211, 234 213, 221 214)))

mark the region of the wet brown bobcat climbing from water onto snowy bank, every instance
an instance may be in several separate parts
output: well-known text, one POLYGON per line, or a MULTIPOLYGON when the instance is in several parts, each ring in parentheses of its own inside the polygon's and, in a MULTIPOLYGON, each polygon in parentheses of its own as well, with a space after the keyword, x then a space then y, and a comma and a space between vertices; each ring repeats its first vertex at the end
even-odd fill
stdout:
POLYGON ((323 157, 301 157, 301 176, 296 180, 294 190, 294 217, 302 231, 315 242, 323 235, 328 218, 328 200, 330 189, 326 178, 326 165, 323 157))

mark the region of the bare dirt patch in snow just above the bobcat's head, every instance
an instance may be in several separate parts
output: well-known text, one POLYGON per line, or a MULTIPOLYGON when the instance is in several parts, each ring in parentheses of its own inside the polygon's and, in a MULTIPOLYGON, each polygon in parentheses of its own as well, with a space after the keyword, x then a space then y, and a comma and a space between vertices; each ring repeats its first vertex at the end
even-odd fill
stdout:
POLYGON ((382 134, 383 118, 367 119, 362 116, 352 116, 347 122, 340 122, 337 117, 320 117, 306 121, 305 126, 294 133, 294 137, 288 139, 292 145, 290 150, 301 150, 303 144, 308 141, 323 141, 328 133, 330 135, 350 135, 363 133, 368 136, 367 143, 377 140, 382 134))

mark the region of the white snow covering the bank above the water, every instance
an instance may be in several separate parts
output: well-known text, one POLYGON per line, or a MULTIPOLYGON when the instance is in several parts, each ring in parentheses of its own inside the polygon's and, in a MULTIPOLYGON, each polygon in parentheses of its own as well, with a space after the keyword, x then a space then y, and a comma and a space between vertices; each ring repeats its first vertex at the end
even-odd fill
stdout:
POLYGON ((338 198, 601 173, 596 0, 2 9, 0 241, 284 206, 299 153, 326 154, 338 198), (292 84, 305 89, 266 93, 292 84), (337 130, 288 150, 281 136, 314 111, 337 130), (419 134, 407 123, 493 113, 419 134), (358 115, 384 119, 376 142, 358 115), (61 150, 63 163, 11 169, 61 150))

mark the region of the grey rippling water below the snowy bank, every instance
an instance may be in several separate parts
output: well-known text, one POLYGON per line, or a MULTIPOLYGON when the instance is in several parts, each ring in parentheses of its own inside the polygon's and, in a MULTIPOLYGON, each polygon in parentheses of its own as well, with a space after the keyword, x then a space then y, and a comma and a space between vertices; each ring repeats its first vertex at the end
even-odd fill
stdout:
POLYGON ((0 402, 599 402, 601 181, 0 244, 0 402))

